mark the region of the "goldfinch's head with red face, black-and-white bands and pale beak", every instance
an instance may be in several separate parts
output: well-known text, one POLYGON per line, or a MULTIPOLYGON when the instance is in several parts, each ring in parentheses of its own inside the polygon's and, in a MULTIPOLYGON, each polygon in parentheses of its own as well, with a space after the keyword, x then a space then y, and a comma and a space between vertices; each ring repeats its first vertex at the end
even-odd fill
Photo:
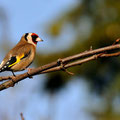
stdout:
POLYGON ((43 41, 36 33, 25 33, 22 36, 22 39, 30 44, 33 44, 34 46, 37 45, 37 42, 43 41))

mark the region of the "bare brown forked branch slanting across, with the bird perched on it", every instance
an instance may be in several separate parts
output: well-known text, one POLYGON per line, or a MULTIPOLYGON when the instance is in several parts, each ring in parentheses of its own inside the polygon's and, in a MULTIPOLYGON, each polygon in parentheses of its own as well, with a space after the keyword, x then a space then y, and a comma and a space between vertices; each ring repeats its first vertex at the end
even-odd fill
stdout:
POLYGON ((70 72, 66 70, 69 67, 81 65, 83 63, 96 60, 98 58, 114 57, 114 56, 120 55, 119 51, 108 54, 107 52, 108 51, 110 52, 111 50, 120 50, 120 44, 115 44, 115 45, 111 45, 111 46, 107 46, 107 47, 103 47, 103 48, 99 48, 95 50, 89 50, 89 51, 85 51, 85 52, 82 52, 82 53, 79 53, 73 56, 63 58, 63 59, 58 59, 57 61, 54 61, 52 63, 46 64, 38 68, 34 68, 30 70, 29 72, 17 75, 16 77, 14 76, 0 77, 0 81, 8 80, 0 84, 0 90, 13 87, 15 83, 25 78, 30 78, 38 74, 49 73, 49 72, 60 71, 60 70, 71 74, 70 72))

